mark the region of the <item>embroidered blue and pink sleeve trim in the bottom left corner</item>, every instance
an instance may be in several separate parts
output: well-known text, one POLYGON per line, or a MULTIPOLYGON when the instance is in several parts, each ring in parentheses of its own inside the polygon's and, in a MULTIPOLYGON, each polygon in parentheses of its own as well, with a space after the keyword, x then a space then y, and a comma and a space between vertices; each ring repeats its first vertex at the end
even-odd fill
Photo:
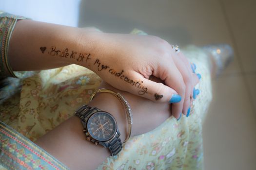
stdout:
POLYGON ((34 170, 37 168, 40 170, 48 168, 54 170, 69 170, 49 153, 39 148, 35 143, 31 142, 1 121, 0 141, 0 163, 8 169, 11 167, 15 168, 16 165, 19 165, 27 170, 34 170), (20 153, 21 149, 24 150, 24 153, 20 153), (2 159, 3 156, 8 156, 9 159, 12 159, 13 161, 4 161, 6 158, 2 159), (28 156, 30 156, 29 159, 27 158, 28 156))

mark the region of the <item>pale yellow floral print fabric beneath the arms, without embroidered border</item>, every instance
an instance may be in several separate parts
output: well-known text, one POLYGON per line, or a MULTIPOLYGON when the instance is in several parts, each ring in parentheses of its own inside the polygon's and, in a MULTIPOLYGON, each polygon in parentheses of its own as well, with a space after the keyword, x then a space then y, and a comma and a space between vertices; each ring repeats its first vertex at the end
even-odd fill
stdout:
MULTIPOLYGON (((189 118, 182 116, 177 121, 170 117, 155 130, 132 137, 118 156, 108 157, 98 170, 203 168, 201 124, 212 97, 208 60, 196 47, 183 52, 196 63, 197 72, 202 75, 196 86, 201 93, 189 118)), ((77 65, 30 73, 20 79, 21 90, 2 101, 0 120, 35 141, 88 103, 100 82, 95 73, 77 65)))

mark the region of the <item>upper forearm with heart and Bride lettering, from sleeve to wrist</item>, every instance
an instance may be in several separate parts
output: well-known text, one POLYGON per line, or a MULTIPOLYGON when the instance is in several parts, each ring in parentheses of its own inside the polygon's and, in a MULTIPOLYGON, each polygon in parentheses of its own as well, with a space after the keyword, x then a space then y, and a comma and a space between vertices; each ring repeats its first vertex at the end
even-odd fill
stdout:
POLYGON ((69 64, 88 67, 86 60, 95 54, 96 41, 97 36, 84 29, 19 20, 11 36, 8 57, 15 71, 69 64))

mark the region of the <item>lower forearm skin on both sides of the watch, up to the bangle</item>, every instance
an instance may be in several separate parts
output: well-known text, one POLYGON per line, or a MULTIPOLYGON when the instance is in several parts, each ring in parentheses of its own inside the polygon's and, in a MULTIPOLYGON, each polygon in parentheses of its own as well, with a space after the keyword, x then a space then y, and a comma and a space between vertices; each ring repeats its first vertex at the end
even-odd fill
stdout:
MULTIPOLYGON (((123 107, 116 97, 102 93, 95 97, 90 106, 96 106, 115 117, 123 142, 126 137, 125 126, 127 122, 123 107)), ((64 121, 35 143, 71 170, 94 170, 110 155, 107 148, 86 140, 82 123, 76 116, 64 121)))

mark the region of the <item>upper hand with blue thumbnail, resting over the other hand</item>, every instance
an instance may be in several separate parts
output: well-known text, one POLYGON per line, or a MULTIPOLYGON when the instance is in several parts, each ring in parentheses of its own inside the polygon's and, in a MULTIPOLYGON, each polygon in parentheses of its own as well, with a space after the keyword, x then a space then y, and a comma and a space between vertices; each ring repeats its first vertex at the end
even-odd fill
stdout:
POLYGON ((198 78, 183 54, 156 36, 95 32, 93 37, 97 48, 87 68, 120 90, 173 103, 172 114, 177 119, 181 112, 187 114, 198 78), (163 82, 149 80, 152 75, 163 82))

